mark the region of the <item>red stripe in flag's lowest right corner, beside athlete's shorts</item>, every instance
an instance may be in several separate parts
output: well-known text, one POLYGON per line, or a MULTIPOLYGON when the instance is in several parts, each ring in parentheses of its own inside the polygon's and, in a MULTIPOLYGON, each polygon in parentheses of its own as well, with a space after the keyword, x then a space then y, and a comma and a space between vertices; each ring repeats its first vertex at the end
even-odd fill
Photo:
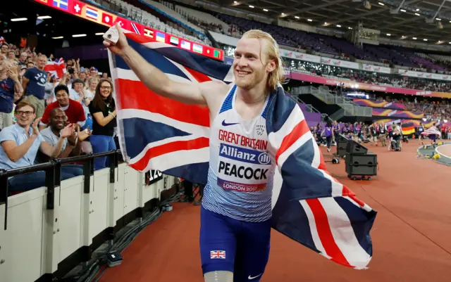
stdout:
POLYGON ((334 262, 345 265, 346 267, 352 267, 350 263, 347 262, 347 259, 341 252, 340 248, 338 248, 338 245, 335 243, 332 231, 330 231, 326 210, 324 210, 319 199, 311 199, 306 201, 315 217, 316 230, 318 231, 319 239, 323 244, 324 250, 326 250, 326 255, 331 257, 334 262))

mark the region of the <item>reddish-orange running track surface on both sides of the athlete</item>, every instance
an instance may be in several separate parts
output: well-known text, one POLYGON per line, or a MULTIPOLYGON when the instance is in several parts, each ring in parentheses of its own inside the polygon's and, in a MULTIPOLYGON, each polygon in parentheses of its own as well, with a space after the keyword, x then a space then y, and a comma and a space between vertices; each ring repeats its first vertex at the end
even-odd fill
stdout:
MULTIPOLYGON (((403 144, 402 152, 369 146, 380 164, 371 181, 347 179, 343 162, 328 163, 335 177, 378 211, 368 270, 341 267, 273 231, 261 281, 450 282, 451 170, 432 160, 417 160, 418 146, 403 144)), ((199 207, 175 204, 172 212, 142 231, 123 252, 123 263, 108 269, 100 281, 204 281, 199 226, 199 207)))

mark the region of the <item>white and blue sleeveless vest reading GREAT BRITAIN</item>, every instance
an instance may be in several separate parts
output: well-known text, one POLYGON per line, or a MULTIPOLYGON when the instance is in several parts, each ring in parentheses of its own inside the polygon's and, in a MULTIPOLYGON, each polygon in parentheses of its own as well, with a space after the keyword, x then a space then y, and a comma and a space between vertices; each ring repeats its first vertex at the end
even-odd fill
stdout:
POLYGON ((210 126, 210 162, 202 206, 247 222, 271 218, 275 160, 268 154, 266 98, 261 114, 242 120, 234 85, 210 126))

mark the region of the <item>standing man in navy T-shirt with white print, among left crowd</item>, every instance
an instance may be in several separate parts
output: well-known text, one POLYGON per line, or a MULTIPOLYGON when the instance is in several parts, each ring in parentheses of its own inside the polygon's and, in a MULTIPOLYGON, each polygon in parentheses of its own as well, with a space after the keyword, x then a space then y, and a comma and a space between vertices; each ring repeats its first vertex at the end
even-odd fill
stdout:
POLYGON ((44 114, 45 84, 47 83, 47 72, 44 67, 47 65, 47 56, 41 55, 37 60, 37 67, 30 68, 23 75, 24 100, 30 101, 36 108, 36 116, 42 117, 44 114))

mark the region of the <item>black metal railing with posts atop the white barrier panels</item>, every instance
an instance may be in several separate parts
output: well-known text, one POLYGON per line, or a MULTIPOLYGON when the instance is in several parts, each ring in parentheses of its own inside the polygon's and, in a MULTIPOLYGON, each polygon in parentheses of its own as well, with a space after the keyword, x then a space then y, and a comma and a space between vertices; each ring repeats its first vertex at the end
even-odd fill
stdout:
MULTIPOLYGON (((16 169, 0 169, 0 204, 5 204, 5 222, 4 230, 8 226, 8 178, 14 177, 18 174, 25 174, 29 172, 45 172, 45 186, 47 187, 47 210, 54 210, 55 203, 55 189, 61 185, 61 166, 74 162, 82 162, 84 179, 84 193, 90 192, 91 177, 94 176, 94 159, 101 157, 109 158, 110 168, 110 183, 115 182, 115 169, 119 165, 119 154, 121 150, 110 150, 104 153, 79 155, 73 158, 54 159, 50 162, 45 162, 38 165, 30 165, 27 167, 18 167, 16 169)), ((60 193, 61 197, 61 193, 60 193)), ((61 199, 59 199, 61 200, 61 199)))

